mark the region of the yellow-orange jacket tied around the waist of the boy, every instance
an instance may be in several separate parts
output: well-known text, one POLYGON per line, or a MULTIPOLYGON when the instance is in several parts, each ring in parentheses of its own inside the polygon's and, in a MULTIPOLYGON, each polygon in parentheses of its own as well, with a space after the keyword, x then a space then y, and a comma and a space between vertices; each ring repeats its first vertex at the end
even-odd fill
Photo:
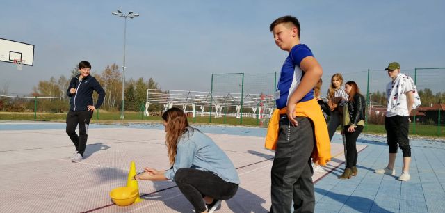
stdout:
MULTIPOLYGON (((277 148, 280 114, 285 114, 286 112, 287 107, 273 111, 267 129, 265 148, 269 150, 277 148)), ((331 147, 326 121, 321 112, 320 105, 318 105, 315 98, 307 102, 298 102, 295 105, 295 116, 307 117, 314 123, 315 143, 312 160, 314 162, 318 160, 320 165, 325 166, 331 159, 331 147)))

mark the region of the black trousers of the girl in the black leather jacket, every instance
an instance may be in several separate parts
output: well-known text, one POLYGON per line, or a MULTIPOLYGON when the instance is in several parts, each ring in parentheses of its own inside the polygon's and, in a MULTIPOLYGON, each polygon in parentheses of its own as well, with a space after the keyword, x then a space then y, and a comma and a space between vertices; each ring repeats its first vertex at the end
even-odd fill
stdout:
POLYGON ((349 127, 350 126, 345 126, 343 129, 346 138, 346 168, 357 166, 357 139, 363 131, 363 126, 361 125, 355 127, 354 132, 348 132, 349 127))

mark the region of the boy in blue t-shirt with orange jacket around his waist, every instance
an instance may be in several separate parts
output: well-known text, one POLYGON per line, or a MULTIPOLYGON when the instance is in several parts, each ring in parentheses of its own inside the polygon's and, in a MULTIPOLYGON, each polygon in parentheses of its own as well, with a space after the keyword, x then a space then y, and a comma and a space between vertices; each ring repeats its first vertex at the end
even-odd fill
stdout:
POLYGON ((323 153, 330 150, 319 146, 322 143, 318 141, 327 138, 327 127, 313 90, 323 70, 309 47, 300 44, 296 17, 276 19, 270 31, 275 44, 289 52, 275 91, 280 121, 271 170, 270 212, 291 212, 292 201, 295 212, 314 212, 311 157, 318 148, 317 156, 328 156, 320 158, 322 165, 330 158, 329 153, 323 153))

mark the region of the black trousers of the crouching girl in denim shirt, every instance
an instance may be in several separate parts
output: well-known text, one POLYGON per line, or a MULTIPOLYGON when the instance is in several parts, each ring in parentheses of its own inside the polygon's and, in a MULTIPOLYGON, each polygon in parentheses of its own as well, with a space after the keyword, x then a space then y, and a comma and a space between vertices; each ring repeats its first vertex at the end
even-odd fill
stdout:
POLYGON ((226 182, 218 175, 194 168, 179 168, 175 173, 175 182, 182 194, 195 207, 196 212, 207 211, 202 200, 204 196, 216 200, 228 200, 238 190, 238 184, 226 182))

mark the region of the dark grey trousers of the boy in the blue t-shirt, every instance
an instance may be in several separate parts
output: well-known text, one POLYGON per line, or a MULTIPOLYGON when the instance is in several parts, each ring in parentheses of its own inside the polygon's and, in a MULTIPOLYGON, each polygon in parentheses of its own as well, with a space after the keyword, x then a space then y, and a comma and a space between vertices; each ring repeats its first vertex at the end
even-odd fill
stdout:
POLYGON ((280 128, 273 160, 270 212, 314 212, 311 155, 314 150, 314 125, 309 118, 297 117, 298 126, 280 116, 280 128))

